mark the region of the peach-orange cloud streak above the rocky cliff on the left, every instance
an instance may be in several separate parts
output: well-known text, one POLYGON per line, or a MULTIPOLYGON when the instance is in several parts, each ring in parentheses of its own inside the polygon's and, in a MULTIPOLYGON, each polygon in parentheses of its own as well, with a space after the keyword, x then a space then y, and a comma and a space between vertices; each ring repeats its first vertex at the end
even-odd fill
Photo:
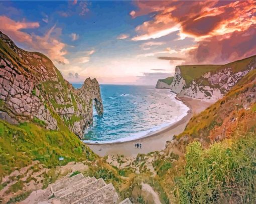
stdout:
POLYGON ((21 31, 21 29, 38 28, 38 22, 26 22, 25 20, 16 22, 6 16, 0 16, 0 22, 0 30, 12 40, 23 42, 30 49, 42 52, 54 61, 64 64, 69 63, 68 59, 64 57, 67 54, 66 44, 52 37, 53 32, 61 32, 59 28, 53 26, 44 36, 38 36, 21 31))

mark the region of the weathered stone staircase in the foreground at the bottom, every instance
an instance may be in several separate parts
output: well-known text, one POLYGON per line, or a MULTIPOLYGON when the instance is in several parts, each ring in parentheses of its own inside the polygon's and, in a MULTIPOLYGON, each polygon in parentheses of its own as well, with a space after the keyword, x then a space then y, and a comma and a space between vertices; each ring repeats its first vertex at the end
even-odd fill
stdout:
POLYGON ((105 181, 95 177, 84 177, 83 174, 77 174, 72 177, 64 177, 50 186, 54 198, 46 203, 61 204, 113 204, 122 203, 130 204, 127 198, 120 202, 118 194, 112 185, 106 184, 105 181))

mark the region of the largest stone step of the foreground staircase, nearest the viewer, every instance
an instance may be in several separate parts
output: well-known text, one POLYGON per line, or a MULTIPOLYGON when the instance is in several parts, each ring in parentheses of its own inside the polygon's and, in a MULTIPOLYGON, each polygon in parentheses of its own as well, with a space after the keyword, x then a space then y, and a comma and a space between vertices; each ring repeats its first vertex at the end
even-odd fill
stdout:
POLYGON ((102 187, 101 189, 97 190, 96 192, 83 197, 73 204, 114 204, 118 202, 118 195, 115 191, 114 186, 112 183, 102 187))

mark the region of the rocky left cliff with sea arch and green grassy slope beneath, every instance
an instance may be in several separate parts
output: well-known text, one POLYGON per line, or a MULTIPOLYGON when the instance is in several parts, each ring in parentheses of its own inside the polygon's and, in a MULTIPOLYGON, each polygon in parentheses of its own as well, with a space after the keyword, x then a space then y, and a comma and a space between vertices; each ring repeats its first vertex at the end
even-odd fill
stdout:
POLYGON ((101 116, 96 79, 74 89, 49 58, 0 32, 0 202, 54 182, 48 173, 59 175, 59 157, 62 165, 98 159, 78 138, 93 122, 93 104, 101 116))

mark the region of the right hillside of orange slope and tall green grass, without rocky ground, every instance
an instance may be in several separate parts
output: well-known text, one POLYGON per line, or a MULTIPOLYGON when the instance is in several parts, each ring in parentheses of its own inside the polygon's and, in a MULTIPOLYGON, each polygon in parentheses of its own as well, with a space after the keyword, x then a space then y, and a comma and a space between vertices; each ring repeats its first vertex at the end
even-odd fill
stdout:
POLYGON ((255 203, 255 88, 252 70, 167 145, 177 155, 156 179, 174 203, 255 203))

